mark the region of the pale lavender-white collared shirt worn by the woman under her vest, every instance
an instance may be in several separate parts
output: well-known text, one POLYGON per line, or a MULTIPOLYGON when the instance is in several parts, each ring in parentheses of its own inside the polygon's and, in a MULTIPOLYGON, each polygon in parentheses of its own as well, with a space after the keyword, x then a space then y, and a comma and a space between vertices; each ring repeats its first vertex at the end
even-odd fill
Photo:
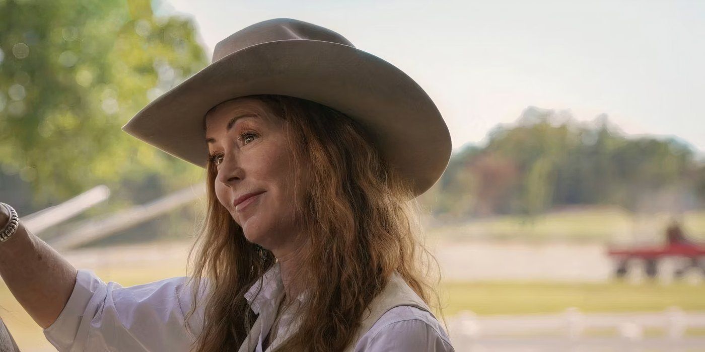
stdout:
MULTIPOLYGON (((122 287, 105 283, 92 270, 78 270, 76 284, 59 318, 44 336, 63 351, 189 351, 194 337, 183 326, 191 308, 187 277, 171 277, 148 284, 122 287)), ((245 294, 255 314, 264 322, 256 352, 263 352, 262 341, 269 333, 283 296, 278 264, 264 274, 245 294)), ((203 294, 204 290, 200 291, 203 294)), ((277 335, 289 334, 294 317, 285 310, 277 335)), ((189 320, 200 332, 203 306, 197 306, 189 320)), ((267 351, 264 352, 268 352, 267 351)), ((443 327, 431 313, 410 306, 388 310, 355 346, 355 352, 455 351, 443 327)))

